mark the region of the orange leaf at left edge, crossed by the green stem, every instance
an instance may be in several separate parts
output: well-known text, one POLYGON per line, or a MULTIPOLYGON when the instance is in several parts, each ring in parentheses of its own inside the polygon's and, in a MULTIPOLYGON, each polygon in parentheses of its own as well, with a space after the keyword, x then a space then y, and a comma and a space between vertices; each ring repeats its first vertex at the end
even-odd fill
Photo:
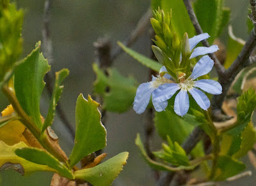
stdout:
MULTIPOLYGON (((13 113, 12 105, 7 106, 6 109, 2 111, 2 116, 11 115, 13 113)), ((28 145, 28 141, 22 135, 24 132, 25 126, 19 122, 19 120, 12 120, 8 124, 0 127, 0 141, 8 145, 14 145, 20 141, 24 141, 28 145)))

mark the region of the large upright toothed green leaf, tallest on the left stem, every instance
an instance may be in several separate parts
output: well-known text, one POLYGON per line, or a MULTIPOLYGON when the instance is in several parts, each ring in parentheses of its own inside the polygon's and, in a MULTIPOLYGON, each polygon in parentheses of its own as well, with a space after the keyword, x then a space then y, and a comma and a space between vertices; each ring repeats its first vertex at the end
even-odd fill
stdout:
POLYGON ((35 50, 17 66, 14 79, 17 99, 39 129, 42 127, 40 97, 45 86, 45 73, 50 69, 47 60, 40 53, 40 45, 40 41, 36 43, 35 50))

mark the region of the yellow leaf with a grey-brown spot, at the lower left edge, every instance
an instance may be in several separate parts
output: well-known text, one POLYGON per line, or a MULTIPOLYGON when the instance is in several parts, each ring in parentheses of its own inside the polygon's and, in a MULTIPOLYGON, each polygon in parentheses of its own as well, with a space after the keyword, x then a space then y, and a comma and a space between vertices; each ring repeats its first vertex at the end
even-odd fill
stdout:
POLYGON ((36 171, 49 171, 57 172, 48 166, 35 164, 30 161, 17 156, 15 150, 23 147, 28 147, 24 142, 16 143, 13 146, 6 145, 3 141, 0 141, 0 171, 4 169, 14 169, 21 175, 31 175, 36 171))

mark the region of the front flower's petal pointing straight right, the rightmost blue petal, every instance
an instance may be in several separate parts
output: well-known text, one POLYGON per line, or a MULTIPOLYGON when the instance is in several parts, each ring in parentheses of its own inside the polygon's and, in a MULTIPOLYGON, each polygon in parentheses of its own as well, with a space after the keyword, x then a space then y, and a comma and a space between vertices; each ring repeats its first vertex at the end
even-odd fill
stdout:
POLYGON ((198 80, 195 82, 194 87, 198 87, 210 94, 221 94, 222 91, 220 83, 214 80, 198 80))

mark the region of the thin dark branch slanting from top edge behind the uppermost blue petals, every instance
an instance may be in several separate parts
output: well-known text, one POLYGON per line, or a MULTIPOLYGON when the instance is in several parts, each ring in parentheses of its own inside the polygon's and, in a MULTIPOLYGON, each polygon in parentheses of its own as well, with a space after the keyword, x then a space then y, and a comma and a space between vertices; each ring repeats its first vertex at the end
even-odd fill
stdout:
MULTIPOLYGON (((189 18, 192 22, 192 24, 195 27, 196 30, 196 34, 203 34, 204 32, 202 31, 202 28, 196 18, 195 12, 193 10, 193 7, 191 5, 191 2, 189 0, 183 0, 184 4, 186 6, 186 9, 188 11, 188 15, 189 18)), ((202 41, 202 44, 204 45, 204 47, 210 47, 208 41, 206 39, 204 39, 202 41)), ((220 61, 218 60, 218 58, 216 57, 215 54, 209 54, 209 57, 211 57, 211 59, 214 61, 214 66, 216 68, 216 71, 218 73, 219 76, 223 75, 223 73, 225 72, 225 68, 221 65, 220 61)))

